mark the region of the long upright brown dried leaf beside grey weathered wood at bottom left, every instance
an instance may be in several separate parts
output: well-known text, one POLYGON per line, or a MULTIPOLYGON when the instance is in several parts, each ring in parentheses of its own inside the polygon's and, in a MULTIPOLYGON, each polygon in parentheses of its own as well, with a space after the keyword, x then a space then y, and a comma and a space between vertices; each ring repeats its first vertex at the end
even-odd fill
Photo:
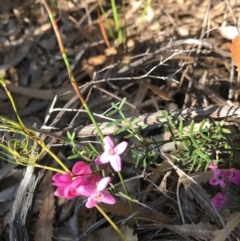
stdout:
POLYGON ((54 219, 54 192, 52 172, 48 171, 43 179, 43 202, 39 213, 35 241, 52 240, 54 219))

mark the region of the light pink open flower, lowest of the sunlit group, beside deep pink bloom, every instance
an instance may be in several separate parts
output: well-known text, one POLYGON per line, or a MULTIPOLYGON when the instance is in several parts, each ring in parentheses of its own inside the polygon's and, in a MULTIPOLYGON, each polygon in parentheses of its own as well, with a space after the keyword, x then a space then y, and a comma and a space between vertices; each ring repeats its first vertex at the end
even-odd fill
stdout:
POLYGON ((105 191, 110 181, 110 177, 104 177, 97 185, 85 185, 80 187, 80 189, 82 189, 81 193, 88 197, 86 202, 87 208, 95 207, 100 202, 108 204, 114 204, 116 202, 115 198, 105 191))

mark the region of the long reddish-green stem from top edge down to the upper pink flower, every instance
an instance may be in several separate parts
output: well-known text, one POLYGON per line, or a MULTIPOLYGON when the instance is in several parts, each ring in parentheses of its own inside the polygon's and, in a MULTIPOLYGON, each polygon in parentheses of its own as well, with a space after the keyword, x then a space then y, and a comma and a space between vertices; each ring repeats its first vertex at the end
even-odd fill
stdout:
POLYGON ((72 68, 71 68, 71 65, 69 63, 69 60, 68 60, 68 57, 66 55, 66 51, 65 51, 65 48, 64 48, 64 45, 63 45, 63 41, 62 41, 62 36, 60 34, 60 31, 58 29, 58 26, 57 26, 57 22, 56 20, 54 19, 54 16, 53 16, 53 12, 51 10, 51 8, 48 6, 46 0, 43 0, 43 4, 48 12, 48 16, 49 16, 49 19, 52 23, 52 26, 53 26, 53 29, 54 29, 54 32, 55 32, 55 35, 56 35, 56 38, 57 38, 57 41, 58 41, 58 45, 59 45, 59 48, 60 48, 60 52, 62 54, 62 58, 65 62, 65 65, 66 65, 66 68, 67 68, 67 71, 68 71, 68 75, 69 75, 69 78, 70 78, 70 82, 72 84, 72 87, 73 89, 75 90, 79 100, 81 101, 83 107, 86 109, 92 123, 94 124, 97 132, 98 132, 98 135, 99 137, 101 138, 101 140, 103 140, 103 134, 102 134, 102 131, 100 130, 94 116, 93 116, 93 113, 91 112, 91 110, 89 109, 81 91, 79 90, 78 86, 77 86, 77 82, 76 82, 76 79, 73 75, 73 72, 72 72, 72 68))

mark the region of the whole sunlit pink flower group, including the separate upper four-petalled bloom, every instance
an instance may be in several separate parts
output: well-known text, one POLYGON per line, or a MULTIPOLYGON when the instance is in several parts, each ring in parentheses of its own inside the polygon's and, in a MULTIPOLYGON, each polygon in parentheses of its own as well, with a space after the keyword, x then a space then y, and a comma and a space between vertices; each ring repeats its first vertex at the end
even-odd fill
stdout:
MULTIPOLYGON (((128 143, 121 142, 116 145, 109 136, 104 138, 104 152, 96 160, 97 165, 110 162, 112 168, 119 172, 122 168, 120 154, 122 154, 128 143)), ((82 161, 78 161, 72 168, 72 172, 66 174, 57 173, 52 177, 53 185, 57 187, 55 196, 62 198, 75 198, 77 196, 88 197, 87 208, 92 208, 97 203, 104 202, 114 204, 114 197, 106 191, 111 181, 110 177, 101 178, 93 173, 90 166, 82 161)))

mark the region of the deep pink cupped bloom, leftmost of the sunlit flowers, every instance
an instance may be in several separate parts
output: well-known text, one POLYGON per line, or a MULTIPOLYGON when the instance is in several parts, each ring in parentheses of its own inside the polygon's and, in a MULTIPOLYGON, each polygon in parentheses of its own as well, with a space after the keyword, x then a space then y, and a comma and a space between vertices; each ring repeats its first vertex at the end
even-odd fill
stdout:
POLYGON ((55 196, 68 199, 80 196, 81 193, 77 189, 79 186, 96 183, 99 180, 99 177, 92 176, 90 166, 82 161, 73 166, 72 173, 75 177, 72 177, 71 173, 53 175, 53 185, 57 186, 55 196))

